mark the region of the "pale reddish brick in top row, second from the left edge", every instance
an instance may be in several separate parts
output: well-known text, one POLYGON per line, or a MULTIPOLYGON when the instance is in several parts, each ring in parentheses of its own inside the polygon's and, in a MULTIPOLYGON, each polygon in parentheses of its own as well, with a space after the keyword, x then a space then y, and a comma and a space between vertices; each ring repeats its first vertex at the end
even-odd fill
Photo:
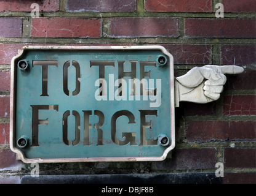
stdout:
POLYGON ((91 12, 135 12, 136 0, 94 0, 94 1, 68 1, 69 11, 91 11, 91 12))

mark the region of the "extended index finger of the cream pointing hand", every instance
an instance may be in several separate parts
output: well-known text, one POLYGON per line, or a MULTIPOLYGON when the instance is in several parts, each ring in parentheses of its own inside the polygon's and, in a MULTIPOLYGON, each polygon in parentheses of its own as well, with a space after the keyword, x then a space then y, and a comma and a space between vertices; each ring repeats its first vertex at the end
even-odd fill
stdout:
POLYGON ((244 71, 244 68, 239 66, 233 66, 233 65, 230 65, 230 66, 207 65, 204 67, 214 69, 219 74, 241 74, 244 71))

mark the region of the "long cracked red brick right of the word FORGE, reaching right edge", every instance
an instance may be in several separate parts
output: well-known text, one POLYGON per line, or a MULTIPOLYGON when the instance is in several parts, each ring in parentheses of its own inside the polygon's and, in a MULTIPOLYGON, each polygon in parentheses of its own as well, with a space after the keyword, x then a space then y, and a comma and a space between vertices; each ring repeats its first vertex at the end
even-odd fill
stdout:
POLYGON ((192 121, 186 123, 188 141, 255 140, 255 121, 192 121))

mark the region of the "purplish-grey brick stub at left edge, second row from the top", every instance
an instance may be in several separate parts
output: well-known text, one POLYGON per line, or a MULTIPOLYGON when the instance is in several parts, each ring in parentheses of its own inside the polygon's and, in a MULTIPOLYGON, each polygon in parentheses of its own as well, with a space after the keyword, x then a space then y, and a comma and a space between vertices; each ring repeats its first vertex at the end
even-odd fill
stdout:
POLYGON ((21 37, 22 20, 20 18, 0 18, 0 37, 21 37))

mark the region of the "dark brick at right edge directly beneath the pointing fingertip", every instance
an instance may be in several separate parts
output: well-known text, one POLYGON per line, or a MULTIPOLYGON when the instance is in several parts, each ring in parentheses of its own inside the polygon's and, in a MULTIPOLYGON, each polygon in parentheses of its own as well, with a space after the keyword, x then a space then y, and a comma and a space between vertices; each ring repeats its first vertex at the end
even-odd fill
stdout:
POLYGON ((244 89, 255 89, 256 70, 246 69, 241 74, 226 75, 226 90, 244 90, 244 89))

